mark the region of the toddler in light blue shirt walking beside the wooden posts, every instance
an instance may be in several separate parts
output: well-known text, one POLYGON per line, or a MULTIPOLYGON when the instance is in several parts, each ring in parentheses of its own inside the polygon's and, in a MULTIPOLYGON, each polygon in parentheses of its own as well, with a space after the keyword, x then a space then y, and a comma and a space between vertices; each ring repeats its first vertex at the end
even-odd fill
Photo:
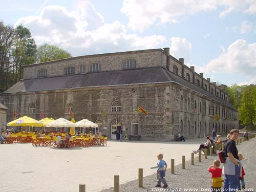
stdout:
POLYGON ((163 154, 158 154, 157 155, 157 159, 159 160, 158 164, 157 164, 157 185, 156 187, 161 187, 161 182, 164 184, 163 185, 163 188, 166 188, 168 187, 165 179, 164 179, 164 176, 165 176, 165 172, 166 172, 166 169, 167 169, 167 163, 163 160, 163 154))

